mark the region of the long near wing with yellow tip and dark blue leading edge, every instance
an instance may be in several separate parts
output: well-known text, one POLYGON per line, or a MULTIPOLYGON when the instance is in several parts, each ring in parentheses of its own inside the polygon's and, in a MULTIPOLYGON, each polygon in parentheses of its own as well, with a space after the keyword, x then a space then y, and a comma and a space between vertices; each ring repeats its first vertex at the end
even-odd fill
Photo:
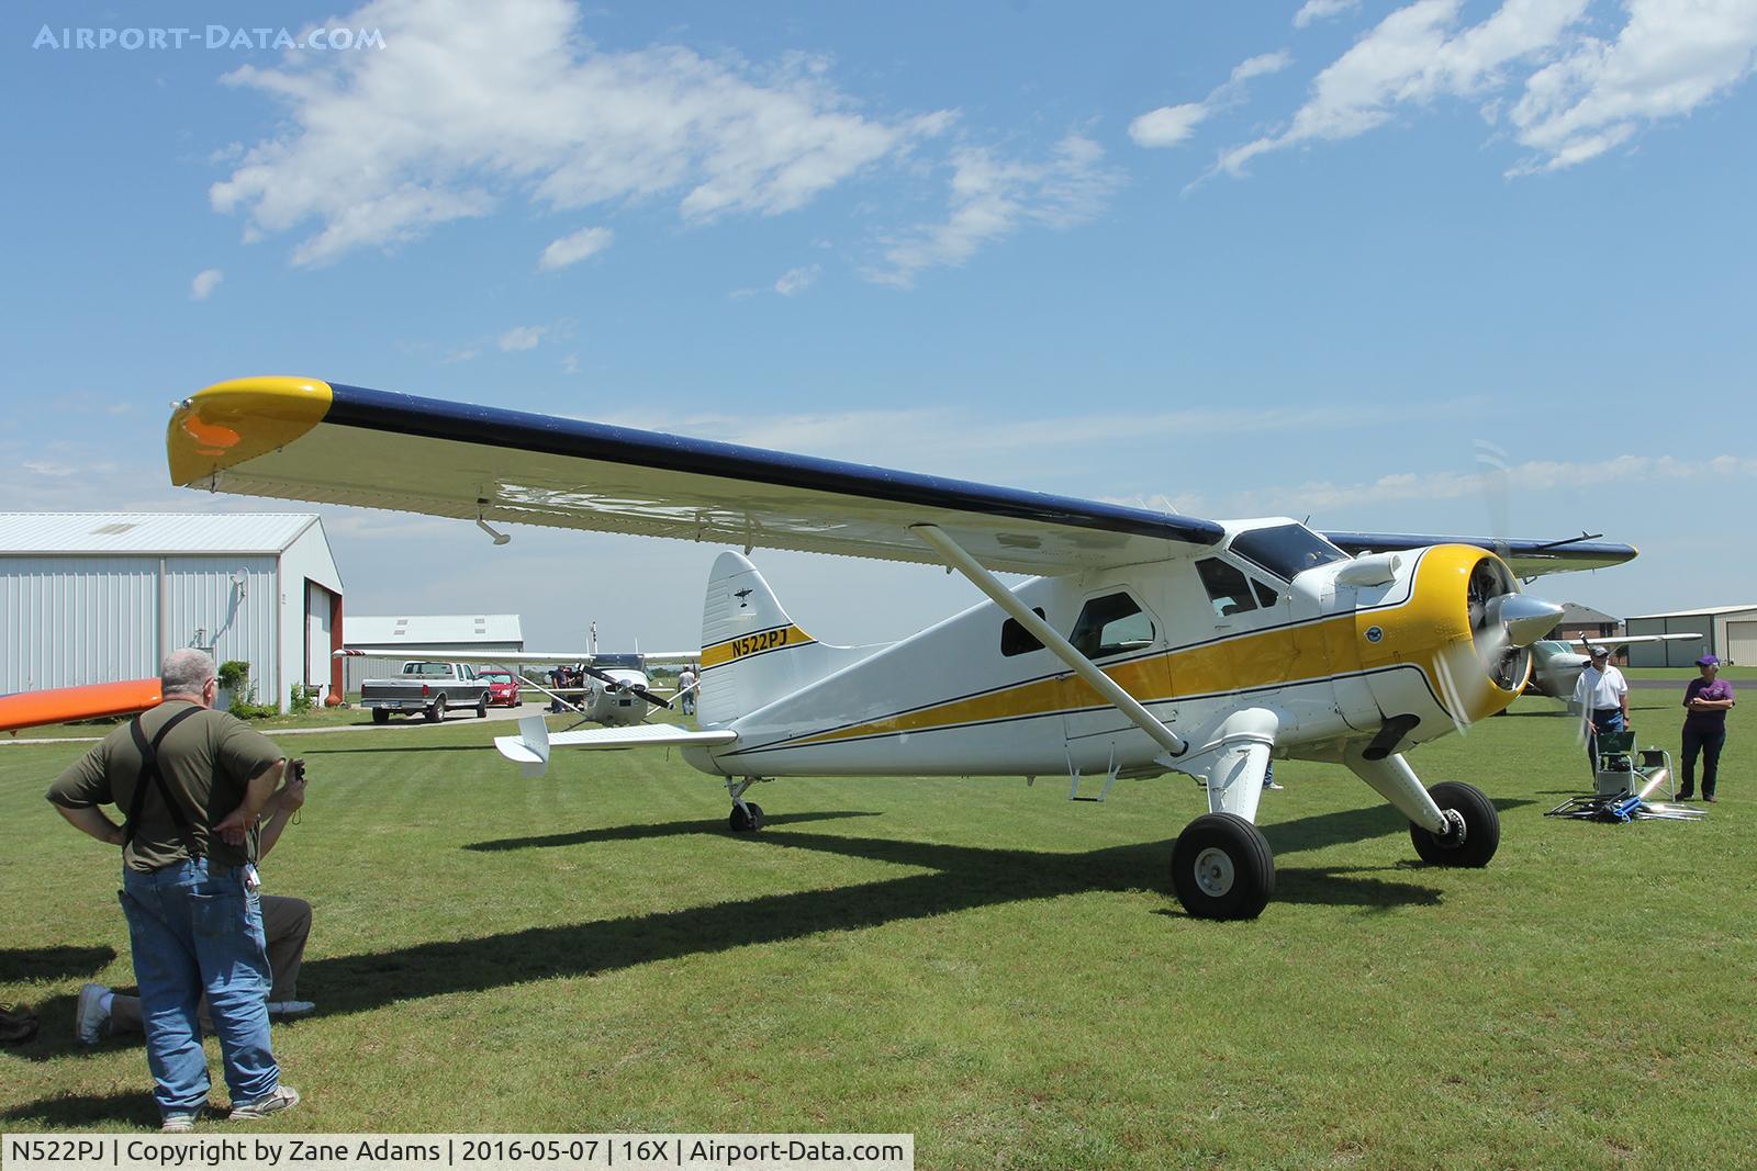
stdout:
POLYGON ((1065 574, 1225 539, 1207 520, 316 379, 183 400, 176 485, 459 520, 940 564, 938 525, 987 569, 1065 574))

